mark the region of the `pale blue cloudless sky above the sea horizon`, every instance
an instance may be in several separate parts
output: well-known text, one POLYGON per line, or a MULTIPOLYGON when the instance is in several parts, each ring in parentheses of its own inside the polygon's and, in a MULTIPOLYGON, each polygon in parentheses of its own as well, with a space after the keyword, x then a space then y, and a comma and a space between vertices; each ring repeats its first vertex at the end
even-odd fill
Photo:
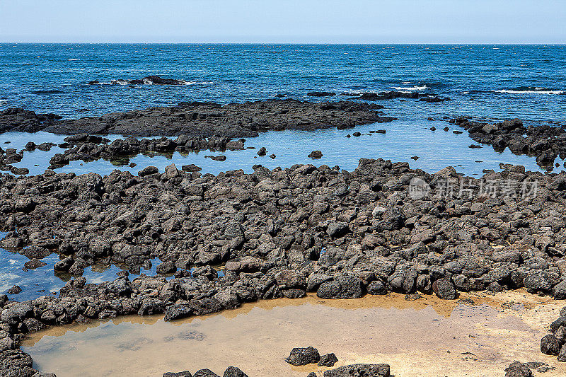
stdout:
POLYGON ((0 42, 566 43, 566 0, 0 0, 0 42))

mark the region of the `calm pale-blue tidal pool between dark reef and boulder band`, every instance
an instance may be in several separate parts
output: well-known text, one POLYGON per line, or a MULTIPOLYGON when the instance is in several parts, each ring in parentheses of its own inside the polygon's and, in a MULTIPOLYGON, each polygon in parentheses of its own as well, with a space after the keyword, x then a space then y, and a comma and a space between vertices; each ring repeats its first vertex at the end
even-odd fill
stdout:
MULTIPOLYGON (((132 158, 125 158, 116 161, 71 161, 68 166, 58 168, 55 171, 62 173, 90 173, 95 172, 101 175, 108 175, 119 168, 129 170, 134 175, 146 166, 156 166, 161 172, 163 169, 175 163, 177 168, 194 163, 202 168, 202 173, 218 174, 221 171, 243 169, 246 173, 252 173, 252 166, 261 164, 267 168, 290 167, 296 163, 313 163, 316 166, 326 164, 328 166, 340 166, 340 168, 352 171, 358 166, 360 158, 384 158, 396 161, 408 161, 411 168, 421 168, 429 173, 434 173, 445 168, 454 166, 458 173, 466 175, 482 175, 483 169, 501 170, 499 163, 512 163, 523 165, 526 170, 543 171, 536 165, 535 158, 529 156, 516 156, 506 149, 502 153, 497 153, 491 146, 483 146, 481 149, 470 149, 475 141, 467 136, 467 133, 454 134, 452 131, 458 129, 454 125, 449 125, 449 132, 444 132, 442 128, 448 125, 441 121, 403 121, 398 120, 390 123, 366 124, 352 129, 319 129, 315 132, 308 131, 271 131, 260 134, 259 137, 249 138, 246 141, 247 147, 255 149, 244 149, 243 151, 200 151, 195 153, 163 156, 147 156, 139 154, 132 158), (431 131, 430 127, 436 127, 436 131, 431 131), (385 129, 386 134, 370 133, 378 129, 385 129), (346 137, 354 132, 360 132, 360 137, 346 137), (258 156, 258 149, 265 146, 266 156, 258 156), (311 151, 320 150, 323 157, 317 160, 308 158, 311 151), (275 154, 275 159, 270 158, 275 154), (214 161, 206 156, 226 156, 226 161, 214 161), (411 157, 418 156, 417 161, 411 157), (137 166, 129 168, 129 163, 136 163, 137 166)), ((21 150, 28 141, 40 144, 50 141, 59 144, 63 141, 64 135, 54 135, 47 132, 37 132, 26 134, 23 132, 8 132, 0 134, 0 146, 6 148, 16 148, 21 150), (10 144, 3 144, 10 141, 10 144)), ((108 139, 117 139, 117 135, 110 135, 108 139)), ((62 153, 64 150, 54 146, 51 151, 44 152, 35 150, 24 152, 24 158, 20 163, 14 163, 18 168, 28 168, 31 175, 43 173, 50 165, 50 158, 55 153, 62 153)), ((563 161, 559 161, 560 168, 554 171, 558 173, 563 169, 563 161)))

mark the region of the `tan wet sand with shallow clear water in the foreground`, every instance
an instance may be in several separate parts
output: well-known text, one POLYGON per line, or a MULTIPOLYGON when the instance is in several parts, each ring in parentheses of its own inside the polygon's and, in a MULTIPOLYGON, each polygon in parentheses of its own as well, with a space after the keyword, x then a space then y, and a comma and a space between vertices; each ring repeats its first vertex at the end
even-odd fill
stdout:
POLYGON ((294 367, 293 347, 334 352, 335 365, 387 363, 395 376, 504 376, 514 360, 566 366, 540 352, 545 327, 563 303, 524 291, 462 294, 460 301, 423 296, 316 296, 249 303, 233 311, 166 323, 161 316, 125 317, 53 327, 23 349, 42 371, 65 376, 161 376, 166 371, 229 365, 253 376, 306 376, 328 368, 294 367), (471 298, 474 303, 469 303, 471 298))

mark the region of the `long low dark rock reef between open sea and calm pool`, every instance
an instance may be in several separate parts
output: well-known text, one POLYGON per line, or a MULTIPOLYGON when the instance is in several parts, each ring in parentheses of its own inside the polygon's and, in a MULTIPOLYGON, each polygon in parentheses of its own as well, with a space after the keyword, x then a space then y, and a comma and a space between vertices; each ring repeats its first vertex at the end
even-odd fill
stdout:
POLYGON ((271 129, 303 129, 391 122, 381 116, 381 105, 353 101, 311 103, 299 100, 264 100, 247 103, 179 103, 173 108, 117 112, 79 120, 57 120, 22 109, 0 112, 0 132, 43 130, 54 134, 122 134, 148 137, 187 135, 206 137, 255 137, 271 129))

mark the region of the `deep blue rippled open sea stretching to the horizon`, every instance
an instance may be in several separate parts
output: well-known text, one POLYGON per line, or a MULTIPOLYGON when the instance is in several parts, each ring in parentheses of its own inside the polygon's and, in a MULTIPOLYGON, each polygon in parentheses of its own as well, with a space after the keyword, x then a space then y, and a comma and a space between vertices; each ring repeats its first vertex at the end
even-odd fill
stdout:
MULTIPOLYGON (((565 45, 0 44, 0 106, 66 117, 171 105, 306 99, 308 91, 422 88, 448 103, 385 103, 411 120, 438 115, 566 120, 565 45), (159 75, 183 86, 88 85, 159 75), (426 86, 426 88, 424 88, 426 86)), ((343 97, 337 97, 343 98, 343 97)))

